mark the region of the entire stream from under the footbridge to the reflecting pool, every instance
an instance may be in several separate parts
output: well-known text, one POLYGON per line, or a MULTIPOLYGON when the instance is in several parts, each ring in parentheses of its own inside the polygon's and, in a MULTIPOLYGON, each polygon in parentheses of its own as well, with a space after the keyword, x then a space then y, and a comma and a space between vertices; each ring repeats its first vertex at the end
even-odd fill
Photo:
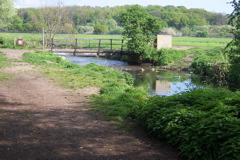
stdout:
POLYGON ((152 95, 171 96, 202 87, 195 84, 191 75, 186 72, 156 70, 150 67, 133 66, 127 62, 97 57, 66 56, 66 60, 81 66, 96 63, 98 65, 120 69, 123 72, 129 72, 135 79, 135 86, 147 87, 149 93, 152 95))

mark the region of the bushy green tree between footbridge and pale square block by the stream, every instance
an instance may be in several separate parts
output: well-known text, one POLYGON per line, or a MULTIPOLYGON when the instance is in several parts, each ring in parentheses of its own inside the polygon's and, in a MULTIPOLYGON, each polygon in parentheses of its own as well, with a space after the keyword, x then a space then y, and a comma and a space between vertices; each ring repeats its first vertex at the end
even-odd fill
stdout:
POLYGON ((124 27, 124 38, 129 39, 128 52, 148 58, 150 43, 155 40, 154 34, 161 28, 160 21, 141 6, 134 5, 121 15, 121 24, 124 27))

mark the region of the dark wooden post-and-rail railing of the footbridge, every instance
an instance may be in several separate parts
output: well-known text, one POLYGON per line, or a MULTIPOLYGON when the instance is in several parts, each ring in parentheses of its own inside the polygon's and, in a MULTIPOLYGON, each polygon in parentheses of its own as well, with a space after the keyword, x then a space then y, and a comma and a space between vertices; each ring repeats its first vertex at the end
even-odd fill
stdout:
POLYGON ((78 38, 52 38, 53 49, 84 49, 84 50, 125 50, 126 39, 78 39, 78 38))

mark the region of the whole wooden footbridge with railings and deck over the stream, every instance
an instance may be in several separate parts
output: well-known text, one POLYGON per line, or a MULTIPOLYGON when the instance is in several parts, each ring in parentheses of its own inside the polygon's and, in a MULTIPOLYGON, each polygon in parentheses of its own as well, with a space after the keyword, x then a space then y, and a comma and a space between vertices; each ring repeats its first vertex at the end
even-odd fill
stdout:
POLYGON ((74 56, 126 55, 126 39, 52 38, 51 51, 73 53, 74 56))

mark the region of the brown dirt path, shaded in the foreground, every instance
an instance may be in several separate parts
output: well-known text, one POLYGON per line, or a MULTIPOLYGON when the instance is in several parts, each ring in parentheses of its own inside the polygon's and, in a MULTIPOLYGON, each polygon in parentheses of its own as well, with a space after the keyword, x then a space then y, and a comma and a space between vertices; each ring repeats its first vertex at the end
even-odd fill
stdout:
MULTIPOLYGON (((24 50, 1 50, 21 59, 24 50)), ((26 63, 0 70, 0 160, 176 160, 176 152, 135 131, 125 132, 91 111, 97 88, 61 88, 26 63)))

